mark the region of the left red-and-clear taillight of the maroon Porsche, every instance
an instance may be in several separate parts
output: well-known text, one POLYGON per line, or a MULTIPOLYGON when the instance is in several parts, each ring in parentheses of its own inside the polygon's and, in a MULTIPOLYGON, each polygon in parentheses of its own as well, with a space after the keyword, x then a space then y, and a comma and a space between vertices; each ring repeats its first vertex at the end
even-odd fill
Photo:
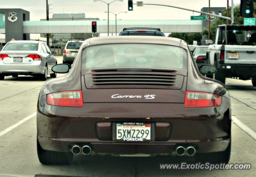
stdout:
POLYGON ((50 93, 46 97, 47 104, 54 106, 81 107, 83 98, 81 90, 50 93))

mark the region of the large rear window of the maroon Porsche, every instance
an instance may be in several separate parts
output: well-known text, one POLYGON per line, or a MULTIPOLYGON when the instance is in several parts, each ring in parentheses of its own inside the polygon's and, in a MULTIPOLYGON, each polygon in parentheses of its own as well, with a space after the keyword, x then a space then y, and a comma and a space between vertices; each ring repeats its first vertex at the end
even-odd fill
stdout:
POLYGON ((82 51, 82 69, 103 67, 154 67, 186 69, 185 49, 156 44, 109 44, 82 51))

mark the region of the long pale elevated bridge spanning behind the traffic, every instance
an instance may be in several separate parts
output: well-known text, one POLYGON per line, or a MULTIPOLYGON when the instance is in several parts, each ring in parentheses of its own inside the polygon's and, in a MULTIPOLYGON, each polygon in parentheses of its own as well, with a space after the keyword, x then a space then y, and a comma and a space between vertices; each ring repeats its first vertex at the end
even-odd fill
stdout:
MULTIPOLYGON (((97 33, 108 32, 108 22, 98 20, 97 33)), ((109 32, 116 32, 116 22, 109 21, 109 32)), ((160 28, 165 33, 175 32, 201 32, 202 21, 200 20, 119 20, 117 21, 117 32, 123 28, 148 27, 160 28)), ((91 33, 91 21, 25 21, 23 22, 23 33, 91 33)))

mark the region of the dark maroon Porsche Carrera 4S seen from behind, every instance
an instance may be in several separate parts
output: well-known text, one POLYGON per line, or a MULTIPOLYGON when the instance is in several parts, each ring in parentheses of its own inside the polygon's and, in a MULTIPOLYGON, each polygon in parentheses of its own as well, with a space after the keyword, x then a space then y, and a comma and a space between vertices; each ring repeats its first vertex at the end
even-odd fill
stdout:
POLYGON ((40 91, 40 162, 68 164, 79 154, 190 155, 200 162, 228 163, 230 96, 222 83, 203 76, 215 67, 199 70, 181 39, 84 41, 71 69, 52 67, 68 74, 40 91))

